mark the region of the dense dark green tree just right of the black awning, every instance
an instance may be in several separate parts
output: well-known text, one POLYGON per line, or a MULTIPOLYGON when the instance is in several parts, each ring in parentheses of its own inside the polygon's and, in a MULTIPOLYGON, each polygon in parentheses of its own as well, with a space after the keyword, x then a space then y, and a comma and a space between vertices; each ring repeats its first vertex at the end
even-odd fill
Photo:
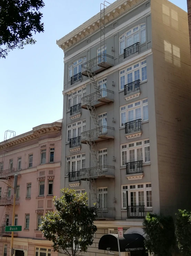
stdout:
POLYGON ((145 247, 156 256, 170 256, 174 245, 174 223, 171 216, 148 213, 143 221, 145 247))

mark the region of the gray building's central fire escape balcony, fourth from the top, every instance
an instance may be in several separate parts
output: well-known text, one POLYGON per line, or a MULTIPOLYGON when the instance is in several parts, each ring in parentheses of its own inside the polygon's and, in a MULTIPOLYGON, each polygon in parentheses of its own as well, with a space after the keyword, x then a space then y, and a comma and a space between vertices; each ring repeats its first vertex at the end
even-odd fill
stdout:
POLYGON ((114 178, 114 166, 99 165, 80 169, 80 180, 89 178, 114 178))

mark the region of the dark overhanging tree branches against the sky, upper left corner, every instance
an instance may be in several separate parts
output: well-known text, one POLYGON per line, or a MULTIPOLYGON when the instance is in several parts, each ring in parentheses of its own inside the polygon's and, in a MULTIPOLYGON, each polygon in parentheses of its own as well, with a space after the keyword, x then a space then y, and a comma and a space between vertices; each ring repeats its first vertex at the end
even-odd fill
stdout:
POLYGON ((43 32, 42 0, 0 0, 0 58, 24 45, 35 44, 32 33, 43 32))

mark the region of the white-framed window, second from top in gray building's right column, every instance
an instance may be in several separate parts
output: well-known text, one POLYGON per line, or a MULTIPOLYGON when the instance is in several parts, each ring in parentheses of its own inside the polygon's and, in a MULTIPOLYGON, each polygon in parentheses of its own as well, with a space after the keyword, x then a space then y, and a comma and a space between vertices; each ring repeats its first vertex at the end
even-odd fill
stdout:
POLYGON ((141 80, 147 80, 147 61, 143 60, 119 71, 119 90, 124 89, 124 85, 141 80))

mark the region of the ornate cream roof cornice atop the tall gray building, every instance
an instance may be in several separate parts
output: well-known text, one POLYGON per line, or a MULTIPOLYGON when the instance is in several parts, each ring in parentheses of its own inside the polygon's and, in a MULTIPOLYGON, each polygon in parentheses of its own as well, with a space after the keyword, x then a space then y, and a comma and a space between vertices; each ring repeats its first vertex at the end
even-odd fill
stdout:
MULTIPOLYGON (((127 14, 133 8, 139 6, 147 0, 117 0, 110 6, 105 8, 105 26, 108 26, 114 20, 127 14)), ((73 46, 77 45, 87 37, 97 33, 103 27, 103 18, 100 20, 100 13, 94 15, 92 18, 84 22, 82 25, 72 30, 66 36, 57 41, 57 45, 62 48, 64 52, 68 51, 73 46)))

